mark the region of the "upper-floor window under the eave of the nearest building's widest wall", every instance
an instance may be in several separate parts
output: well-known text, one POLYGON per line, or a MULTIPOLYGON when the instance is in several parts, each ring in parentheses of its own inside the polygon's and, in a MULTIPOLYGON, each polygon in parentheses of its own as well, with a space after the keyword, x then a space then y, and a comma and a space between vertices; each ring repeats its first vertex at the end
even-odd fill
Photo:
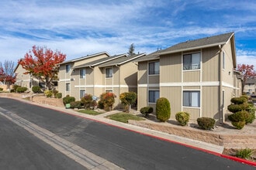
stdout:
POLYGON ((200 53, 185 54, 183 56, 183 70, 200 69, 200 53))

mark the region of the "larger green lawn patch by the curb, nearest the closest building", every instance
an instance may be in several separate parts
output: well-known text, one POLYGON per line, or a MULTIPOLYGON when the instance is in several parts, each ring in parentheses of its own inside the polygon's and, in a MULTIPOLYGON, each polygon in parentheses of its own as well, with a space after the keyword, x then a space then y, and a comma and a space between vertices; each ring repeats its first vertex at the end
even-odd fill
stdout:
POLYGON ((128 113, 117 113, 117 114, 111 114, 109 116, 107 116, 107 118, 112 119, 114 121, 120 121, 123 123, 128 123, 128 120, 134 120, 134 121, 143 121, 144 118, 142 117, 138 117, 136 115, 133 114, 128 114, 128 113))

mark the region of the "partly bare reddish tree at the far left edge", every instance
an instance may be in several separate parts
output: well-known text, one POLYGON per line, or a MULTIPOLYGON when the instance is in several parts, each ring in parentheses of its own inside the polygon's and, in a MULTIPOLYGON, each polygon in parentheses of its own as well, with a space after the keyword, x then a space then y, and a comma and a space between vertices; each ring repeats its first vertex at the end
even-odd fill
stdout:
POLYGON ((4 64, 0 63, 0 82, 7 85, 7 89, 16 82, 16 73, 13 61, 5 60, 4 64))

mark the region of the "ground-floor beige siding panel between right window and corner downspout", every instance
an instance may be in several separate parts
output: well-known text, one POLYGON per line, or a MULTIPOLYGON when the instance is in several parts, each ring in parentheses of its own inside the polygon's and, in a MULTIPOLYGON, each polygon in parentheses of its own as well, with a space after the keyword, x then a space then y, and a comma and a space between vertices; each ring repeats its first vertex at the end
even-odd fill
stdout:
POLYGON ((212 117, 220 120, 220 87, 202 87, 201 93, 202 117, 212 117))

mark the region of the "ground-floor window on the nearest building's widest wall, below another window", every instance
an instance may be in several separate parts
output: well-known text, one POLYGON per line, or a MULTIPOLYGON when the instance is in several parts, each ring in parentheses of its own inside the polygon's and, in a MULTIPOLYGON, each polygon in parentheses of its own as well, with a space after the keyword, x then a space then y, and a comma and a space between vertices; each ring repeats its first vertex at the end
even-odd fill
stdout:
POLYGON ((200 107, 199 91, 183 91, 183 106, 200 107))

